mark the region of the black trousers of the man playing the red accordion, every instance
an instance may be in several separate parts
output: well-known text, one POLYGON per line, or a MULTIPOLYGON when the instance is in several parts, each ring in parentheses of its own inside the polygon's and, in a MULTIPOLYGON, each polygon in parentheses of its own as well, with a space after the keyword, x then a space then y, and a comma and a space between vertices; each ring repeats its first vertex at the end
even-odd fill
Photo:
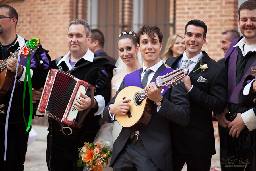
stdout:
POLYGON ((82 171, 83 167, 77 166, 78 148, 84 142, 93 143, 98 129, 94 133, 71 137, 61 132, 51 131, 47 135, 46 163, 51 171, 82 171))

